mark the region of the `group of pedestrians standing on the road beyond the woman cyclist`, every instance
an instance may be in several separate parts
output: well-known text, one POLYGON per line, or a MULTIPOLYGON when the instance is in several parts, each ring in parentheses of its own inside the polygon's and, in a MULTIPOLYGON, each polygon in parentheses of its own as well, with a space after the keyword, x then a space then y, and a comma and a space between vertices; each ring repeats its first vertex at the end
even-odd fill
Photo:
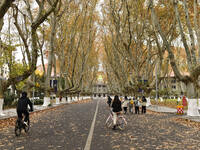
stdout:
MULTIPOLYGON (((120 107, 122 109, 121 111, 123 111, 124 114, 127 114, 128 111, 129 111, 129 113, 133 114, 134 108, 135 108, 135 114, 139 114, 140 113, 140 107, 141 107, 141 113, 142 114, 146 113, 147 100, 146 100, 145 96, 142 96, 141 98, 140 97, 128 98, 127 96, 125 96, 124 98, 118 97, 118 99, 121 102, 120 107)), ((115 97, 114 97, 114 100, 115 100, 115 97)), ((110 96, 108 96, 107 103, 108 103, 109 107, 112 107, 112 103, 114 102, 114 100, 112 100, 112 98, 110 96)))

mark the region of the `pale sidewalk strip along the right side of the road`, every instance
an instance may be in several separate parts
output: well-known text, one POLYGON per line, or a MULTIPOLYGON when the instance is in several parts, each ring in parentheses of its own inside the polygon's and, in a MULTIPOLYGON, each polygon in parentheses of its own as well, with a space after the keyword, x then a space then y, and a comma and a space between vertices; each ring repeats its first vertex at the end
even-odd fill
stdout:
MULTIPOLYGON (((175 108, 169 108, 165 106, 158 106, 158 105, 151 105, 147 107, 148 110, 155 111, 155 112, 162 112, 162 113, 172 113, 176 114, 177 110, 175 108)), ((200 122, 200 116, 187 116, 187 111, 184 111, 184 115, 177 115, 180 118, 188 119, 195 122, 200 122)))

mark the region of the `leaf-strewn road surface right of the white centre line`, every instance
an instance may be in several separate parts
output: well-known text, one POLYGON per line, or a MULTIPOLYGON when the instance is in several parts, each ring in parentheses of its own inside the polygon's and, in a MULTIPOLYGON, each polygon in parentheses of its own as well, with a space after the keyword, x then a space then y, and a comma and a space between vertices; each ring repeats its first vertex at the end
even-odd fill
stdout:
POLYGON ((127 114, 126 129, 113 131, 102 127, 102 122, 109 113, 105 109, 103 106, 99 108, 96 123, 98 131, 94 133, 95 142, 92 149, 95 147, 99 150, 200 149, 200 123, 179 119, 176 114, 147 111, 147 114, 127 114))

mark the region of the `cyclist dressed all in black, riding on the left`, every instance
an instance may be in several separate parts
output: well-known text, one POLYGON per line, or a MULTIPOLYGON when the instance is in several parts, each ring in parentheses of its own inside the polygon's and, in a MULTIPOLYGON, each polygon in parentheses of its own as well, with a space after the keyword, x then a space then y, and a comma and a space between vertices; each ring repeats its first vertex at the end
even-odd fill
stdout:
POLYGON ((28 105, 30 106, 30 111, 33 111, 33 104, 30 99, 27 97, 27 92, 22 92, 22 97, 19 98, 17 103, 17 116, 22 120, 24 114, 24 124, 28 125, 29 112, 28 105))

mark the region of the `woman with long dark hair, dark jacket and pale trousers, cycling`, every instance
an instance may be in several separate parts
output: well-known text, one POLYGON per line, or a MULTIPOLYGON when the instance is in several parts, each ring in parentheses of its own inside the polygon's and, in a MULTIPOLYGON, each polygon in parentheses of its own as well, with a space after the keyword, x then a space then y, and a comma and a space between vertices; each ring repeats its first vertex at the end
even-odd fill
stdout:
POLYGON ((121 101, 119 100, 119 97, 118 95, 115 95, 114 97, 114 100, 113 100, 113 103, 112 103, 112 111, 113 111, 113 130, 116 129, 116 123, 117 123, 117 114, 122 111, 122 103, 121 101))

